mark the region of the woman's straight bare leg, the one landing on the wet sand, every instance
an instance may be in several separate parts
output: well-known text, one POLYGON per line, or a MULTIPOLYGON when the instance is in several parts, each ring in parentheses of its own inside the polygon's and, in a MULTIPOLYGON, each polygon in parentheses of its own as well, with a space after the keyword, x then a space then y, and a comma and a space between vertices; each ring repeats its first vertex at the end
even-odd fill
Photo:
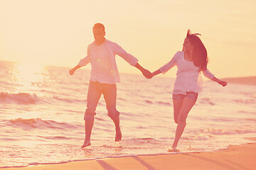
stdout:
POLYGON ((178 125, 176 128, 176 134, 175 134, 175 139, 174 139, 174 144, 173 144, 174 149, 177 147, 178 140, 181 138, 183 130, 186 127, 186 118, 188 116, 188 113, 189 113, 189 111, 191 111, 191 108, 194 106, 195 103, 196 103, 196 101, 192 98, 188 98, 188 97, 183 98, 181 110, 178 115, 178 125))

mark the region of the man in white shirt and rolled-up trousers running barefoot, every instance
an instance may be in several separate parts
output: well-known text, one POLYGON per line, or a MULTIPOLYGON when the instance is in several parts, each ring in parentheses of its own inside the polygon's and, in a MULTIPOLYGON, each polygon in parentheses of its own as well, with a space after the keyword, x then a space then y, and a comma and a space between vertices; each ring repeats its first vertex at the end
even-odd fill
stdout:
POLYGON ((107 115, 113 120, 116 130, 115 141, 122 139, 122 132, 119 126, 119 111, 116 109, 117 85, 120 82, 115 55, 119 55, 129 64, 137 67, 144 77, 149 78, 151 72, 144 69, 136 57, 130 55, 122 49, 117 43, 105 39, 105 26, 102 23, 95 23, 92 28, 95 41, 87 47, 87 56, 80 60, 79 64, 70 69, 70 75, 73 75, 77 69, 87 64, 91 64, 91 77, 87 93, 87 109, 85 111, 85 142, 82 149, 91 145, 90 136, 94 123, 97 103, 103 94, 106 102, 107 115))

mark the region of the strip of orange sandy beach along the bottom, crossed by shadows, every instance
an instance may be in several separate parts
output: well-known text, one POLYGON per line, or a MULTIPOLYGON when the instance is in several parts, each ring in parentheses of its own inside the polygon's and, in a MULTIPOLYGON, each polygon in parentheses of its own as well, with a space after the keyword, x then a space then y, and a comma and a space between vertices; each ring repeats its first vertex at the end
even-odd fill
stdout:
POLYGON ((66 164, 43 164, 7 170, 75 170, 75 169, 255 169, 256 137, 245 145, 230 146, 215 152, 139 155, 134 157, 113 157, 66 164))

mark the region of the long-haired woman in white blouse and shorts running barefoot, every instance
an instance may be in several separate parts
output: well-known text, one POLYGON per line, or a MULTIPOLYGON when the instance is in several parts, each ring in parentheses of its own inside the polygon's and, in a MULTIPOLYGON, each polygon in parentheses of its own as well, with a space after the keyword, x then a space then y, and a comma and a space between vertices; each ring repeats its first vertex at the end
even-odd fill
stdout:
POLYGON ((186 126, 186 118, 196 103, 198 92, 202 91, 201 75, 199 73, 203 72, 205 77, 216 81, 222 86, 227 85, 227 82, 220 81, 207 69, 208 57, 206 47, 197 35, 200 34, 191 34, 191 31, 188 30, 183 42, 183 51, 176 52, 176 55, 174 55, 170 62, 151 74, 154 77, 160 73, 165 74, 175 65, 178 67, 172 94, 174 121, 177 123, 177 128, 174 144, 169 149, 169 152, 179 151, 176 147, 186 126))

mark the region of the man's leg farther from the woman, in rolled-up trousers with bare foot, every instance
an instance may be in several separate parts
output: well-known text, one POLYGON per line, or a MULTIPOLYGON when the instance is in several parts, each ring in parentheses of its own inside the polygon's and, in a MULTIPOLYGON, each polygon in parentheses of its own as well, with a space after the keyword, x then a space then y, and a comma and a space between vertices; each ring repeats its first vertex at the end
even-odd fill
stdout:
POLYGON ((100 88, 98 84, 95 82, 90 82, 89 89, 87 93, 87 109, 85 111, 85 142, 83 143, 81 148, 85 148, 90 146, 90 137, 92 134, 92 126, 94 123, 94 116, 97 107, 97 103, 100 100, 101 96, 100 88))

